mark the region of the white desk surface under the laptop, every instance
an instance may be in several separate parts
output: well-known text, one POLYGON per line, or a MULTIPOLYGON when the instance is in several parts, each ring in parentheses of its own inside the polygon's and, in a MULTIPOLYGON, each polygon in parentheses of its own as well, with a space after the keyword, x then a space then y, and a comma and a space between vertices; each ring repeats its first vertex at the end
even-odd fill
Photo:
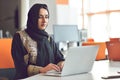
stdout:
MULTIPOLYGON (((22 80, 107 80, 102 79, 101 77, 105 75, 120 75, 117 73, 118 71, 120 71, 120 62, 101 60, 95 61, 92 71, 89 73, 65 77, 52 77, 37 74, 22 80)), ((108 80, 120 80, 120 78, 108 80)))

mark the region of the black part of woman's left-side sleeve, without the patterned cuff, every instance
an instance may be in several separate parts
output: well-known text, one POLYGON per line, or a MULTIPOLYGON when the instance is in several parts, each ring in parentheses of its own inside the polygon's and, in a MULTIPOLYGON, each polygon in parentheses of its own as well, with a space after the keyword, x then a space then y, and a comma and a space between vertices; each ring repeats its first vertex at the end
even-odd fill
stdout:
POLYGON ((21 79, 27 77, 27 64, 24 61, 24 55, 27 54, 27 51, 18 33, 13 37, 11 52, 16 68, 16 78, 21 79))

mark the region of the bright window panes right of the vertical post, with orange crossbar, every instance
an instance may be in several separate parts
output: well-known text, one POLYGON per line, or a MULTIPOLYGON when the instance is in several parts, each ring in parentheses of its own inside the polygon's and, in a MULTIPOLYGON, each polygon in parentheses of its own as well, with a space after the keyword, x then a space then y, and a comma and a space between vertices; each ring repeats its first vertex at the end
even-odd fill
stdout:
POLYGON ((87 0, 89 36, 95 41, 120 37, 120 0, 87 0))

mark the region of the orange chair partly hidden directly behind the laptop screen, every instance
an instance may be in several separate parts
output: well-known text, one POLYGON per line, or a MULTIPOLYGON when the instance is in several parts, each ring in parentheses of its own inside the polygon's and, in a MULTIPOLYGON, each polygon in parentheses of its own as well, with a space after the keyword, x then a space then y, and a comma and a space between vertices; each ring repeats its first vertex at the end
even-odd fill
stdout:
POLYGON ((106 59, 106 55, 105 55, 106 44, 105 44, 105 42, 83 42, 82 43, 82 46, 88 46, 88 45, 99 45, 96 60, 106 59))

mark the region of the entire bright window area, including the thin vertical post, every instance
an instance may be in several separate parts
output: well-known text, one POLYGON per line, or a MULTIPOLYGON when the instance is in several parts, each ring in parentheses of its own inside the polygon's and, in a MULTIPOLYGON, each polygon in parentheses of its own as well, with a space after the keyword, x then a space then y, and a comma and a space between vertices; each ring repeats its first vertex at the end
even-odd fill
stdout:
POLYGON ((79 29, 88 29, 89 38, 94 38, 95 41, 108 41, 110 37, 120 37, 120 0, 69 0, 69 2, 80 14, 79 29))

